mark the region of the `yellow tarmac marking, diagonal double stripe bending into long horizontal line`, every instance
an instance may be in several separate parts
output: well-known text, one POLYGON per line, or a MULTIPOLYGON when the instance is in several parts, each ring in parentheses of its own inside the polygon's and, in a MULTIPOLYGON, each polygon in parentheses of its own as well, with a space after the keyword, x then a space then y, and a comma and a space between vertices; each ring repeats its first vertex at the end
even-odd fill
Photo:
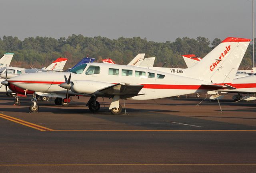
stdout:
POLYGON ((85 131, 85 132, 178 132, 178 131, 184 131, 184 132, 242 132, 242 131, 251 131, 256 132, 256 130, 54 130, 47 127, 43 127, 34 123, 30 123, 28 121, 24 121, 18 118, 14 118, 8 115, 4 115, 0 113, 0 117, 7 119, 9 121, 13 121, 15 123, 19 123, 22 125, 25 125, 27 127, 31 127, 40 131, 85 131))

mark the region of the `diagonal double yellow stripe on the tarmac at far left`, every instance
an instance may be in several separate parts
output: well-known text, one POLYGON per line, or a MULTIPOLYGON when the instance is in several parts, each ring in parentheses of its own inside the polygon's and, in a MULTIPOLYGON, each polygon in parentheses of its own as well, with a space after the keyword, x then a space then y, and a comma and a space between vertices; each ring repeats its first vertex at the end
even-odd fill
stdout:
POLYGON ((10 117, 8 115, 4 115, 4 114, 1 114, 1 113, 0 113, 0 117, 4 118, 4 119, 7 119, 9 121, 13 121, 15 123, 19 123, 19 124, 22 124, 22 125, 25 125, 25 126, 28 126, 28 127, 31 127, 31 128, 37 129, 37 130, 40 130, 40 131, 54 131, 53 129, 49 129, 47 127, 43 127, 43 126, 40 126, 40 125, 37 125, 37 124, 34 124, 34 123, 23 121, 21 119, 10 117))

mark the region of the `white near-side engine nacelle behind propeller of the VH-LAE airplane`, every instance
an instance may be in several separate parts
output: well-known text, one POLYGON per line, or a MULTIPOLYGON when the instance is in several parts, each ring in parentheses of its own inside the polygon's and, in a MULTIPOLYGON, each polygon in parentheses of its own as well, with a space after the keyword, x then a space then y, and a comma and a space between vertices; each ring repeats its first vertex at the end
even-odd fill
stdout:
POLYGON ((75 93, 83 93, 83 94, 93 94, 99 89, 103 89, 108 86, 112 86, 111 83, 106 82, 97 82, 90 80, 75 80, 70 82, 71 91, 75 93))

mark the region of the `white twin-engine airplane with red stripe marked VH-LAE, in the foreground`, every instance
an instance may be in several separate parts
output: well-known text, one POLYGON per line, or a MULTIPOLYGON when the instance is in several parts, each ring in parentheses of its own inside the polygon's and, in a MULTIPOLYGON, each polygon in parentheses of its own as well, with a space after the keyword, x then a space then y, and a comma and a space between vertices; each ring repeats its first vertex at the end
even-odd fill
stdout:
MULTIPOLYGON (((158 99, 222 88, 233 88, 232 82, 250 39, 226 38, 195 66, 183 69, 182 76, 116 64, 86 63, 68 73, 24 74, 2 82, 35 91, 38 95, 69 98, 90 96, 90 111, 97 112, 97 97, 112 98, 110 111, 119 114, 119 99, 158 99), (67 79, 68 77, 68 79, 67 79), (69 91, 71 90, 71 91, 69 91)), ((66 99, 69 101, 69 99, 66 99)), ((34 99, 30 111, 38 111, 34 99)))

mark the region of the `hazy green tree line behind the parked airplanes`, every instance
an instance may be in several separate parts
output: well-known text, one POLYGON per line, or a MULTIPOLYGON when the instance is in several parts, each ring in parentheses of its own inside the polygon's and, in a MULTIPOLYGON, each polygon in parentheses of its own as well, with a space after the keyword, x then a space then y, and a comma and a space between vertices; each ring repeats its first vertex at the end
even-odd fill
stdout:
MULTIPOLYGON (((186 68, 181 55, 195 54, 204 57, 222 40, 212 42, 208 38, 177 38, 174 42, 153 42, 140 37, 109 39, 106 37, 86 37, 81 34, 61 37, 37 36, 25 38, 3 36, 0 38, 0 53, 14 52, 11 66, 23 68, 42 68, 59 57, 68 58, 65 68, 70 68, 84 57, 95 58, 96 62, 111 58, 116 64, 128 64, 139 53, 145 57, 156 57, 155 66, 161 67, 165 62, 171 67, 186 68)), ((248 46, 240 69, 252 66, 252 45, 248 46)))

